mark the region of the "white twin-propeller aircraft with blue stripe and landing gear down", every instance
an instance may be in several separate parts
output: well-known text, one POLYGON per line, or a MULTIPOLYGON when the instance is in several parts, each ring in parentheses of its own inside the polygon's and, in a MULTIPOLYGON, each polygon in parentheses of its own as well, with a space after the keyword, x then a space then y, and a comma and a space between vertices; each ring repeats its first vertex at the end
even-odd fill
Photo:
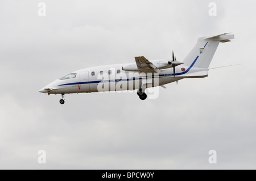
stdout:
MULTIPOLYGON (((147 98, 146 88, 162 86, 183 78, 203 78, 208 76, 209 64, 220 42, 234 39, 234 35, 224 33, 216 36, 199 37, 195 47, 183 62, 172 60, 152 60, 135 57, 131 64, 116 64, 86 68, 49 83, 39 92, 61 94, 60 104, 64 104, 64 94, 81 92, 136 90, 140 99, 147 98)), ((164 87, 166 88, 166 87, 164 87)))

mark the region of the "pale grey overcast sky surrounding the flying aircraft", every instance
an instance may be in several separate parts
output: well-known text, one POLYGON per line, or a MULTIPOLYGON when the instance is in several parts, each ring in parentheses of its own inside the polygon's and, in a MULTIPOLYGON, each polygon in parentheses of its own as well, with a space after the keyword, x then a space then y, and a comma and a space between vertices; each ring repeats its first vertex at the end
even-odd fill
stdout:
POLYGON ((256 169, 255 1, 0 1, 0 169, 256 169), (46 16, 38 16, 38 3, 46 16), (209 3, 217 16, 209 16, 209 3), (233 32, 203 79, 130 93, 39 89, 134 56, 182 61, 197 37, 233 32), (46 151, 46 164, 38 163, 46 151), (209 164, 209 150, 217 164, 209 164))

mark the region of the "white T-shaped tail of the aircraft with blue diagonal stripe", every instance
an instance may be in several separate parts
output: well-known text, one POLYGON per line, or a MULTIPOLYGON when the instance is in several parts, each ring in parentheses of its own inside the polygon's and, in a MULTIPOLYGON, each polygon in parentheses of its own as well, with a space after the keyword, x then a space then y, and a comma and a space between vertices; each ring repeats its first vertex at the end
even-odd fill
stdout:
POLYGON ((183 61, 183 66, 186 66, 188 69, 195 68, 192 71, 188 71, 187 76, 190 76, 189 74, 192 76, 207 76, 207 70, 210 62, 212 61, 213 55, 216 52, 218 44, 220 42, 228 42, 230 39, 234 39, 234 35, 230 35, 229 33, 216 36, 199 37, 197 44, 183 61), (199 71, 201 71, 201 73, 199 73, 199 71))

